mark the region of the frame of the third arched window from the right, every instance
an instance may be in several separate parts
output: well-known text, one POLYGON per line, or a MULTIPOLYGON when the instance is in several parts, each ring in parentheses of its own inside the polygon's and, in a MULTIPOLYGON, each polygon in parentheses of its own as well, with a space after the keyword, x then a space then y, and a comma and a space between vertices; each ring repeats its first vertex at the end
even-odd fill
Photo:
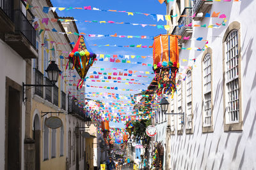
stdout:
POLYGON ((185 125, 186 125, 186 134, 192 134, 193 133, 193 75, 192 75, 192 70, 189 68, 187 69, 186 71, 186 74, 187 74, 187 77, 186 77, 186 80, 185 80, 185 85, 186 85, 186 90, 185 90, 185 97, 186 97, 186 122, 185 122, 185 125), (188 72, 191 72, 191 101, 188 102, 188 72), (188 129, 188 103, 191 103, 191 129, 188 129))

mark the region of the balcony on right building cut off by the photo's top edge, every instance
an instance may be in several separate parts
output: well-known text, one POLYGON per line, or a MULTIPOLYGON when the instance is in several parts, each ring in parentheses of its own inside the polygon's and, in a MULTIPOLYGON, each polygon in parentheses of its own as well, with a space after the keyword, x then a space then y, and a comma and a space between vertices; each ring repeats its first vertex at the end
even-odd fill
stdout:
POLYGON ((202 20, 204 18, 205 13, 209 11, 212 7, 212 1, 202 1, 202 0, 194 0, 193 2, 193 14, 196 13, 195 17, 193 18, 195 21, 202 20), (198 13, 203 13, 202 17, 197 17, 198 13))

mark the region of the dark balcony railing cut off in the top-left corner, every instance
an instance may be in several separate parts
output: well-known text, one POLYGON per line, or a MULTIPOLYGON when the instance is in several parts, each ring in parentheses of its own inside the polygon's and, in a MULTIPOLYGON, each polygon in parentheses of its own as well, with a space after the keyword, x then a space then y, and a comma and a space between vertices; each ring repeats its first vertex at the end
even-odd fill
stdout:
POLYGON ((13 1, 0 0, 0 32, 14 32, 13 1))

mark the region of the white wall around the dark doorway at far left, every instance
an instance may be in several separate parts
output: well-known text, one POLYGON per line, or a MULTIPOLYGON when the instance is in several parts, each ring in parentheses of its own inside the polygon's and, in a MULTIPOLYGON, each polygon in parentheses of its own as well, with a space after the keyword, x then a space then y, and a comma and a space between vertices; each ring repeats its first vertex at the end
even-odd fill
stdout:
MULTIPOLYGON (((0 169, 4 169, 4 143, 5 143, 5 102, 6 102, 6 76, 22 86, 26 82, 26 62, 10 46, 0 39, 0 169)), ((20 94, 21 95, 21 94, 20 94)), ((24 169, 24 132, 25 132, 25 105, 22 103, 21 120, 21 167, 24 169)))

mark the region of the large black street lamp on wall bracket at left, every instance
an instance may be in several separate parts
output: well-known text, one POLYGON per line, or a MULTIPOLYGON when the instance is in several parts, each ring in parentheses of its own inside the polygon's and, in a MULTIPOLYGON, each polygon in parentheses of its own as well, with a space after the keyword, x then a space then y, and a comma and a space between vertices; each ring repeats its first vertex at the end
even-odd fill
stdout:
POLYGON ((45 69, 45 72, 48 75, 49 80, 51 81, 51 85, 26 85, 24 83, 22 83, 22 102, 26 101, 26 97, 25 96, 25 92, 26 86, 29 87, 54 87, 55 83, 58 81, 59 78, 59 74, 60 74, 60 69, 58 68, 58 65, 55 64, 55 61, 52 60, 51 64, 49 64, 49 66, 47 67, 47 69, 45 69))

